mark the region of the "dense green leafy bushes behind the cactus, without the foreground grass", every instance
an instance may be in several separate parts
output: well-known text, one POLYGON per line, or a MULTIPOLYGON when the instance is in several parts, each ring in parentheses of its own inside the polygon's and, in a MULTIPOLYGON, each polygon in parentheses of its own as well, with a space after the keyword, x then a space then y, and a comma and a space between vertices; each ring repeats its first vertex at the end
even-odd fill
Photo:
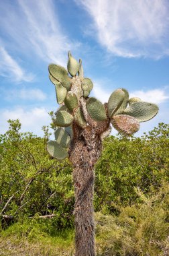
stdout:
MULTIPOLYGON (((71 227, 74 189, 70 163, 54 160, 46 152, 48 129, 44 129, 44 138, 20 129, 19 120, 9 120, 9 130, 0 136, 1 216, 12 216, 15 221, 54 214, 54 226, 71 227)), ((125 206, 139 201, 135 188, 148 194, 168 181, 168 136, 169 125, 160 123, 141 138, 119 135, 105 139, 95 170, 96 212, 118 214, 115 203, 125 206)))

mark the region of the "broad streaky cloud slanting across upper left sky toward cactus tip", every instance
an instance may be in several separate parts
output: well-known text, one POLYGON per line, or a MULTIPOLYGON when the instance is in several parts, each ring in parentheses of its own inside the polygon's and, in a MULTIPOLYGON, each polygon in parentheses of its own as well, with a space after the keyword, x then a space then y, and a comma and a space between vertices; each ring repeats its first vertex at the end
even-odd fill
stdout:
POLYGON ((68 50, 78 46, 63 32, 52 0, 3 3, 0 28, 12 39, 12 47, 17 51, 24 55, 34 53, 46 62, 64 65, 68 50))

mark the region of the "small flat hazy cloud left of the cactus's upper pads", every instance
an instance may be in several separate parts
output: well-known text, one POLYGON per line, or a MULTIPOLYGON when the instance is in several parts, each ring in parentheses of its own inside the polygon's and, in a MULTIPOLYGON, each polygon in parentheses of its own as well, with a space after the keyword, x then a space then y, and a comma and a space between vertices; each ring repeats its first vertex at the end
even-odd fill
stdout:
POLYGON ((40 89, 20 89, 20 90, 5 90, 5 99, 21 99, 21 100, 45 100, 46 94, 40 89))

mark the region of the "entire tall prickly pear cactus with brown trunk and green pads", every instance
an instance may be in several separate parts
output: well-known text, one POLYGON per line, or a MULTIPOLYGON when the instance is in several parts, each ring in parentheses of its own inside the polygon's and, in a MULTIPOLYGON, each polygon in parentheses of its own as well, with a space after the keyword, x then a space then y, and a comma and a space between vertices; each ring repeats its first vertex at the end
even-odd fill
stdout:
POLYGON ((56 87, 58 104, 62 105, 55 119, 52 117, 56 140, 48 141, 47 150, 58 160, 68 157, 74 168, 75 256, 95 256, 94 166, 101 154, 102 141, 111 132, 111 124, 127 136, 137 132, 139 122, 152 119, 158 106, 136 97, 129 99, 123 88, 115 90, 103 105, 97 98, 89 97, 93 82, 83 77, 81 59, 78 63, 69 52, 67 68, 68 71, 59 65, 49 65, 50 81, 56 87))

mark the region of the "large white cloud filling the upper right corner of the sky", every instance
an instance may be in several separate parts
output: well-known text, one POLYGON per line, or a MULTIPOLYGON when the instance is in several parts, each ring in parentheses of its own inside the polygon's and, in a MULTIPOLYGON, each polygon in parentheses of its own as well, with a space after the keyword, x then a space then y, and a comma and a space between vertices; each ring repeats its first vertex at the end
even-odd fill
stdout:
POLYGON ((97 35, 99 43, 114 55, 160 58, 169 54, 168 1, 75 2, 91 15, 94 30, 92 34, 97 35))

